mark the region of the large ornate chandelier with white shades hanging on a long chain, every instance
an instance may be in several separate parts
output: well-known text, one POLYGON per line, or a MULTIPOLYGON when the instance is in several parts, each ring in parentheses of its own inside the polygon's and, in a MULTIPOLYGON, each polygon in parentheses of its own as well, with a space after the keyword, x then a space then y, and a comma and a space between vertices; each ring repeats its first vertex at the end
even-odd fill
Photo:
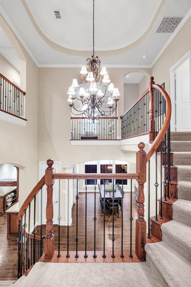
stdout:
MULTIPOLYGON (((81 78, 83 87, 80 88, 77 95, 78 82, 77 79, 72 80, 67 94, 71 112, 76 115, 82 115, 84 118, 93 121, 98 120, 103 116, 110 116, 117 108, 118 96, 120 95, 118 88, 110 83, 109 74, 106 67, 101 67, 101 62, 98 57, 94 57, 94 0, 93 0, 93 55, 87 59, 87 64, 81 68, 81 78), (85 89, 84 89, 85 88, 85 89), (109 94, 109 98, 105 98, 109 94), (78 100, 81 103, 81 110, 75 107, 74 101, 78 100), (115 102, 115 104, 114 104, 115 102), (107 103, 108 107, 103 107, 107 103), (114 105, 114 106, 113 106, 114 105), (76 113, 77 112, 77 113, 76 113)), ((79 106, 79 105, 78 105, 79 106)))

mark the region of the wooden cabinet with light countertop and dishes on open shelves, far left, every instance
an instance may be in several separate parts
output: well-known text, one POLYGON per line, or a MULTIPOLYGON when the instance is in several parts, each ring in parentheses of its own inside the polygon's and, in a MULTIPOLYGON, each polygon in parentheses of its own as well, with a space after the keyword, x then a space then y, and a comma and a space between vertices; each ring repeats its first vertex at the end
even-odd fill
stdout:
POLYGON ((0 186, 0 215, 18 202, 16 186, 0 186))

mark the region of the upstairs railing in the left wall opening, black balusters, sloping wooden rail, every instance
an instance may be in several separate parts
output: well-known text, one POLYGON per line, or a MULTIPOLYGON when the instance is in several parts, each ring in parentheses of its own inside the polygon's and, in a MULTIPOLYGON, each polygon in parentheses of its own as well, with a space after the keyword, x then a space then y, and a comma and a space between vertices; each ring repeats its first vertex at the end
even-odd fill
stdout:
POLYGON ((25 118, 26 92, 0 74, 0 110, 11 115, 25 118))

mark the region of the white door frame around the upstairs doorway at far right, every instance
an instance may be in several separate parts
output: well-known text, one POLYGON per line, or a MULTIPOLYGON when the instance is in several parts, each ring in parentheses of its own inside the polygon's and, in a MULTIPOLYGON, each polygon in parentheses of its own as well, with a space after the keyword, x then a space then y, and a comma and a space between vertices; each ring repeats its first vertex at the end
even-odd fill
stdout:
MULTIPOLYGON (((190 50, 181 57, 178 62, 176 62, 170 69, 170 98, 171 98, 171 105, 172 105, 172 113, 171 113, 171 123, 170 129, 171 131, 176 131, 176 106, 175 106, 175 70, 183 64, 187 59, 189 59, 189 75, 191 76, 191 69, 190 69, 190 50)), ((190 77, 190 110, 191 110, 191 77, 190 77)))

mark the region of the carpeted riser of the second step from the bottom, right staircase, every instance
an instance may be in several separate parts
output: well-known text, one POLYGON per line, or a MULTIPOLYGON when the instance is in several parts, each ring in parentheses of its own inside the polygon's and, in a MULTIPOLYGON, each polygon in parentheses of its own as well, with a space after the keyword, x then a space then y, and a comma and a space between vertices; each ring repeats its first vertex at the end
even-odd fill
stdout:
POLYGON ((191 250, 187 248, 185 245, 182 245, 181 242, 178 242, 178 240, 175 240, 173 237, 166 234, 164 231, 162 235, 162 241, 168 244, 175 251, 178 251, 186 259, 191 261, 191 250))

